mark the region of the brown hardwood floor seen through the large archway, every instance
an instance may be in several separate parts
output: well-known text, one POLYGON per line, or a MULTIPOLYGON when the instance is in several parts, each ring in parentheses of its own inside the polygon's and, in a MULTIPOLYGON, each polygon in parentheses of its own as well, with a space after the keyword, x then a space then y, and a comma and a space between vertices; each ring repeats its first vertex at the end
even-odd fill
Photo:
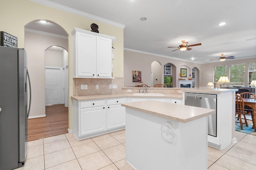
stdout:
POLYGON ((28 141, 68 133, 68 107, 46 106, 46 117, 28 119, 28 141))

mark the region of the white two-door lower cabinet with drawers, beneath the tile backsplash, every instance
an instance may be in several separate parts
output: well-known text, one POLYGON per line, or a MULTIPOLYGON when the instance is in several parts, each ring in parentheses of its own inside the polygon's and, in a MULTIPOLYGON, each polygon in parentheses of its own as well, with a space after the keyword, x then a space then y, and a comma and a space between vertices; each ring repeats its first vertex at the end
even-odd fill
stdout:
POLYGON ((73 103, 73 133, 77 140, 125 128, 126 98, 76 101, 73 103), (108 105, 107 105, 108 103, 108 105))

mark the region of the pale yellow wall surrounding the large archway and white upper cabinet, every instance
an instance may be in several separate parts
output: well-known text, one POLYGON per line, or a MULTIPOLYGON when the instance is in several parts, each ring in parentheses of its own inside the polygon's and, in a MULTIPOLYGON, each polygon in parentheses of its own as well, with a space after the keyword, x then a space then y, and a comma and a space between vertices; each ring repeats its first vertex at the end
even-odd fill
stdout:
MULTIPOLYGON (((24 47, 24 27, 26 24, 36 21, 36 20, 48 20, 54 22, 61 26, 68 34, 68 52, 69 52, 69 75, 73 75, 73 39, 71 32, 76 28, 81 28, 84 30, 91 30, 90 24, 95 23, 99 26, 99 31, 101 34, 106 34, 109 36, 116 37, 114 42, 115 47, 115 59, 113 60, 113 65, 115 69, 113 70, 114 77, 123 77, 123 47, 124 47, 124 33, 123 28, 118 28, 116 26, 111 26, 109 24, 91 20, 82 16, 71 14, 69 12, 64 12, 57 10, 55 8, 50 8, 45 5, 41 5, 29 0, 1 0, 1 31, 7 32, 18 38, 18 48, 24 47)), ((40 40, 38 40, 39 42, 40 40)), ((26 48, 29 48, 27 46, 26 48)), ((46 49, 46 48, 45 48, 46 49)), ((45 50, 44 49, 44 50, 45 50)), ((42 50, 42 49, 40 49, 42 50)), ((39 51, 40 55, 43 53, 39 51)), ((38 70, 38 68, 44 68, 44 61, 42 57, 37 58, 32 56, 32 59, 28 59, 28 69, 38 70), (37 64, 34 64, 37 63, 37 64)), ((41 69, 42 70, 42 69, 41 69)), ((44 69, 43 69, 44 70, 44 69)), ((42 77, 41 71, 35 71, 34 75, 31 76, 31 81, 37 81, 38 77, 42 77)), ((40 78, 40 83, 44 86, 44 78, 40 78)), ((73 95, 73 79, 69 77, 69 96, 73 95)), ((39 87, 34 86, 34 91, 44 91, 39 89, 39 87)), ((37 109, 42 109, 44 107, 44 93, 39 96, 34 96, 35 99, 32 101, 32 105, 35 103, 40 103, 40 107, 37 109)), ((32 106, 31 106, 32 107, 32 106)), ((32 111, 32 108, 31 108, 32 111)), ((69 97, 69 129, 72 129, 72 101, 69 97)))

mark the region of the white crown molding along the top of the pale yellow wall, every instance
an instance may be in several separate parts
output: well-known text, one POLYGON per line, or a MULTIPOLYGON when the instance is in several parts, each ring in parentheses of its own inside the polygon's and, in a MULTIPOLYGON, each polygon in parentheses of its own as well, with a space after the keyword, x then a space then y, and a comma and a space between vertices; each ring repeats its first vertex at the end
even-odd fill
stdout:
POLYGON ((50 6, 52 8, 56 8, 58 10, 70 12, 72 14, 83 16, 83 17, 86 17, 86 18, 90 18, 92 20, 104 22, 106 24, 110 24, 112 26, 116 26, 116 27, 119 27, 119 28, 122 28, 122 29, 125 28, 124 24, 120 24, 118 22, 110 21, 110 20, 107 20, 105 18, 101 18, 99 16, 95 16, 95 15, 92 15, 92 14, 88 14, 86 12, 82 12, 80 10, 75 10, 73 8, 70 8, 70 7, 67 7, 67 6, 64 6, 64 5, 60 5, 60 4, 57 4, 57 3, 54 3, 54 2, 50 2, 48 0, 30 0, 30 1, 36 2, 36 3, 39 3, 39 4, 43 4, 43 5, 46 5, 46 6, 50 6))

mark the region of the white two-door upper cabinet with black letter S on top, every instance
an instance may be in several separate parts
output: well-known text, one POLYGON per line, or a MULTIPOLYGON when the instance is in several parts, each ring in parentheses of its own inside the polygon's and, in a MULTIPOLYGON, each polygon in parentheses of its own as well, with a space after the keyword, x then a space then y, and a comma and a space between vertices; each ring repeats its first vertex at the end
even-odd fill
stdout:
POLYGON ((112 78, 112 41, 116 38, 74 28, 74 77, 112 78))

